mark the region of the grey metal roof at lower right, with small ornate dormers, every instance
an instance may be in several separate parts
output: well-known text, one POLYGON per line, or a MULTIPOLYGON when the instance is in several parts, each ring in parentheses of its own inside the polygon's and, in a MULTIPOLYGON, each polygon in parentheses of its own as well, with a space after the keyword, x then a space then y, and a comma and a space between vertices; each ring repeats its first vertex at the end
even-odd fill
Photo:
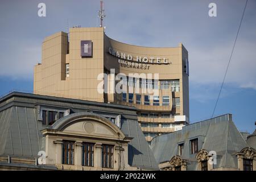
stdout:
POLYGON ((237 130, 231 114, 192 123, 182 130, 155 137, 151 149, 156 162, 170 161, 172 156, 179 155, 178 144, 184 143, 182 159, 189 160, 188 170, 196 170, 196 154, 190 154, 190 140, 198 138, 199 150, 216 151, 217 165, 214 167, 237 167, 236 152, 248 147, 245 139, 237 130))

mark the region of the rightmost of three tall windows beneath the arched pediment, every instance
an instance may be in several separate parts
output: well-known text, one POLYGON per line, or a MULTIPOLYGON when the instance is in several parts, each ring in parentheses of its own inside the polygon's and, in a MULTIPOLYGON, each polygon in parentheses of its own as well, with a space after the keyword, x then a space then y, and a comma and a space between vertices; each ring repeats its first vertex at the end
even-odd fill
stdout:
POLYGON ((103 144, 102 145, 102 160, 101 167, 104 168, 113 168, 113 151, 114 147, 103 144))

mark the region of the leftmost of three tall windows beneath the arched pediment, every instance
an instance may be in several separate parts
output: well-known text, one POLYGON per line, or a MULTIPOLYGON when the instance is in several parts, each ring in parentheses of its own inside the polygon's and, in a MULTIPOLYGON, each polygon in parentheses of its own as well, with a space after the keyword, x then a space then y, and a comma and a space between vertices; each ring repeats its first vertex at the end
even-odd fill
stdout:
POLYGON ((63 141, 62 147, 62 163, 63 164, 74 164, 74 148, 75 142, 63 141))

